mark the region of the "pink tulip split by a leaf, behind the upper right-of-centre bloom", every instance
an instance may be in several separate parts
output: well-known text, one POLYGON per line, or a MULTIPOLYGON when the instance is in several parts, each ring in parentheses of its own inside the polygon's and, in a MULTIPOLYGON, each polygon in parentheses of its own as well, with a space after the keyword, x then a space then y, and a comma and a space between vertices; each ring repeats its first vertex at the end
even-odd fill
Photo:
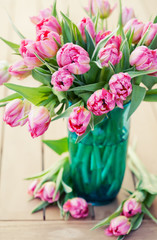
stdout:
MULTIPOLYGON (((98 44, 101 40, 105 39, 108 35, 110 35, 112 32, 111 31, 105 31, 105 32, 98 32, 98 34, 96 35, 95 41, 96 44, 98 44)), ((118 51, 120 51, 120 45, 122 42, 122 38, 120 35, 118 36, 112 36, 110 38, 110 40, 105 44, 104 47, 106 47, 109 44, 114 44, 116 46, 116 48, 118 49, 118 51)))

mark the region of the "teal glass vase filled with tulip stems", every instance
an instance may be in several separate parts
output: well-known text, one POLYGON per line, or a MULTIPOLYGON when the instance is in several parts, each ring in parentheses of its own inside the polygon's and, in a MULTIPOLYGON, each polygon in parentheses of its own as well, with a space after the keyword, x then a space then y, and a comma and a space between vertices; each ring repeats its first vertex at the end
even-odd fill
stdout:
POLYGON ((124 109, 115 108, 79 143, 77 135, 69 132, 71 178, 77 196, 93 205, 111 202, 118 194, 123 181, 130 103, 124 109))

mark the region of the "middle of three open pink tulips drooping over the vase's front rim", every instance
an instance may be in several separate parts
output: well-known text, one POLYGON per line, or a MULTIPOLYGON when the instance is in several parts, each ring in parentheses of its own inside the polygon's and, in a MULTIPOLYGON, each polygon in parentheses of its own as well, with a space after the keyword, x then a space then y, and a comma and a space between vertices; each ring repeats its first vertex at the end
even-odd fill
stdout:
POLYGON ((106 89, 97 90, 87 101, 89 111, 97 116, 112 111, 115 107, 114 95, 106 89))

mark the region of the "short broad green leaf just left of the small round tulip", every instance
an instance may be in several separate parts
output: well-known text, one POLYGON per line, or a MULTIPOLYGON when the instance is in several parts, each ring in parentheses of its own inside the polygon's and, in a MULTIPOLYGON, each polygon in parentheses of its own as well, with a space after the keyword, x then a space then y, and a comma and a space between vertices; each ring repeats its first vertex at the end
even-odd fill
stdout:
POLYGON ((52 75, 50 72, 43 68, 37 67, 32 70, 32 76, 35 80, 43 83, 44 85, 50 86, 52 75))

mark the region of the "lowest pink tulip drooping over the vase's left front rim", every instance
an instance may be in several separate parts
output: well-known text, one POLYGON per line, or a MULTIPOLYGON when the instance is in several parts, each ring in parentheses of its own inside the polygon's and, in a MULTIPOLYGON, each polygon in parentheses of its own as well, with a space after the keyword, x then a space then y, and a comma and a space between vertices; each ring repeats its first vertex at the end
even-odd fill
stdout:
POLYGON ((85 133, 90 122, 91 113, 84 107, 75 107, 68 119, 68 128, 78 136, 85 133))

